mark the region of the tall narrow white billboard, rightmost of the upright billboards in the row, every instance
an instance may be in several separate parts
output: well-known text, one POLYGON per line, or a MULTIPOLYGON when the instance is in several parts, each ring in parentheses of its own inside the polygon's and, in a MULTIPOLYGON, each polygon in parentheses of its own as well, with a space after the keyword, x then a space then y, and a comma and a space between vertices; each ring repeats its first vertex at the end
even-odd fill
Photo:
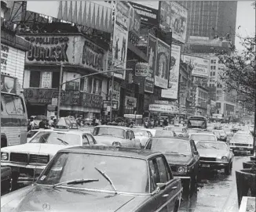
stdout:
POLYGON ((168 99, 177 99, 177 90, 180 73, 181 46, 171 45, 170 54, 170 74, 168 89, 163 89, 161 96, 168 99))

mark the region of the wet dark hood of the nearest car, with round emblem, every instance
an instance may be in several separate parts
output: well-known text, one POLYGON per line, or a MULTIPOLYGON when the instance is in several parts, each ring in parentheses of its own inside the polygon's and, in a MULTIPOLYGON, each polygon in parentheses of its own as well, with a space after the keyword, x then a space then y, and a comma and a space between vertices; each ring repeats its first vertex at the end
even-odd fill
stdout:
MULTIPOLYGON (((121 210, 126 203, 138 203, 144 198, 107 192, 90 192, 76 189, 53 189, 40 185, 27 186, 24 189, 9 193, 1 198, 1 211, 104 211, 121 210), (16 193, 17 192, 17 193, 16 193), (68 201, 67 201, 68 199, 68 201), (136 200, 135 200, 136 199, 136 200)), ((127 207, 127 206, 126 206, 127 207)))

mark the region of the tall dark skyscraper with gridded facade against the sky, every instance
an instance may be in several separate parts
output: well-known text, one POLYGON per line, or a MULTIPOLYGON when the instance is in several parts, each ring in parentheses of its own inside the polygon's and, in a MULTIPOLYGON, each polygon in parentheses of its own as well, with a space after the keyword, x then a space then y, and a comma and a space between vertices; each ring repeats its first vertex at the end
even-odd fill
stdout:
POLYGON ((188 9, 189 36, 214 38, 228 34, 235 44, 237 1, 177 1, 188 9))

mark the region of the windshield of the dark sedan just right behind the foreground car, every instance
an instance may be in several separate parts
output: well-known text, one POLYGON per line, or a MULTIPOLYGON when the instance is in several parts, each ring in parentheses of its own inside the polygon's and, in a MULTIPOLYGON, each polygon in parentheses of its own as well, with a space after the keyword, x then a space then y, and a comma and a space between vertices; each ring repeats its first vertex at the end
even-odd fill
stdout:
MULTIPOLYGON (((148 142, 149 143, 149 142, 148 142)), ((187 141, 178 139, 152 139, 151 149, 162 153, 180 153, 191 155, 190 145, 187 141)))

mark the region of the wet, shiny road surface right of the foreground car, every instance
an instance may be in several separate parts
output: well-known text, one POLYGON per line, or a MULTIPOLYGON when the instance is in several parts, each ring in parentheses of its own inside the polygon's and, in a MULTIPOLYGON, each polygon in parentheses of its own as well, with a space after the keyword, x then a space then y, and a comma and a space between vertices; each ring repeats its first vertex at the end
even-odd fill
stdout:
POLYGON ((248 160, 250 156, 235 156, 229 176, 224 171, 201 172, 197 192, 183 196, 179 212, 237 212, 236 171, 248 160))

